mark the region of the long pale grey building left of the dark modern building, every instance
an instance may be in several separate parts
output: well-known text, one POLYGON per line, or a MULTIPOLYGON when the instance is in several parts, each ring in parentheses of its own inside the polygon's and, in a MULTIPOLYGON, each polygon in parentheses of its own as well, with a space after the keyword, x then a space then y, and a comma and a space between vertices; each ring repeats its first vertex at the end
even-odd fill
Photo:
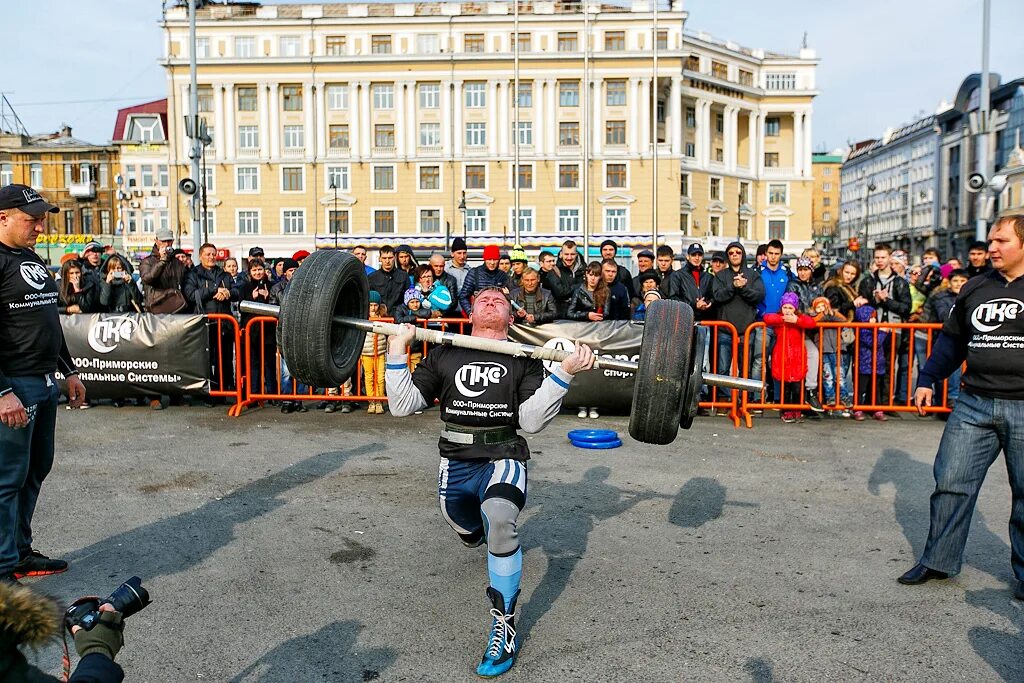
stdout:
POLYGON ((935 245, 939 136, 925 117, 852 150, 842 167, 840 253, 856 239, 920 254, 935 245))

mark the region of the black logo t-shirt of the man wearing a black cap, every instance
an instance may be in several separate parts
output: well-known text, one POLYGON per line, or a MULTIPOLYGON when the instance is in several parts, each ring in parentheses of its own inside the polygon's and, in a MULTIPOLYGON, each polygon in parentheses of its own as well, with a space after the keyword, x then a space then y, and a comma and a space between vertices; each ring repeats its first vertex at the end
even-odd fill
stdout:
POLYGON ((0 244, 0 391, 6 377, 73 372, 57 312, 57 284, 30 249, 0 244))

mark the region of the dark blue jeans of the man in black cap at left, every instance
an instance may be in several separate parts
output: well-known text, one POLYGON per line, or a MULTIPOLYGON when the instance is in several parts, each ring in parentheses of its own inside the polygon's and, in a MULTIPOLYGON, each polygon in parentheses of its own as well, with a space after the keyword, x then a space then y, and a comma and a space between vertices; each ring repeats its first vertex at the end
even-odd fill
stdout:
POLYGON ((0 574, 13 571, 32 549, 32 515, 53 466, 59 392, 52 375, 8 379, 29 413, 29 425, 0 425, 0 574))

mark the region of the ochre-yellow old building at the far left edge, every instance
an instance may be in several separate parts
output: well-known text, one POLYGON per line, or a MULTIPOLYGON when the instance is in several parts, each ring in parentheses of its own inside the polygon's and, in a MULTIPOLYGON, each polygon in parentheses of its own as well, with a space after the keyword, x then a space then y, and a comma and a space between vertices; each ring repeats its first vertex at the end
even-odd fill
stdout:
POLYGON ((48 234, 39 240, 40 253, 51 262, 59 260, 66 247, 80 251, 94 236, 110 241, 105 236, 114 233, 112 170, 117 164, 117 147, 80 140, 70 126, 43 135, 30 135, 24 128, 0 130, 0 186, 30 185, 60 207, 49 218, 48 234))

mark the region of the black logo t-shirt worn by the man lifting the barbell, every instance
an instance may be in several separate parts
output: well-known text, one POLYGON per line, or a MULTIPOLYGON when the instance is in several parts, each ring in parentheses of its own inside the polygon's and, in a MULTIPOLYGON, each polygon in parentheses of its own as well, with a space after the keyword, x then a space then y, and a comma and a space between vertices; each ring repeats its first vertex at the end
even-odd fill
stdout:
MULTIPOLYGON (((413 373, 413 384, 428 405, 440 401, 441 419, 468 428, 519 428, 519 405, 544 382, 536 358, 440 346, 413 373)), ((463 445, 440 439, 440 455, 452 460, 529 460, 522 436, 498 445, 463 445)))

